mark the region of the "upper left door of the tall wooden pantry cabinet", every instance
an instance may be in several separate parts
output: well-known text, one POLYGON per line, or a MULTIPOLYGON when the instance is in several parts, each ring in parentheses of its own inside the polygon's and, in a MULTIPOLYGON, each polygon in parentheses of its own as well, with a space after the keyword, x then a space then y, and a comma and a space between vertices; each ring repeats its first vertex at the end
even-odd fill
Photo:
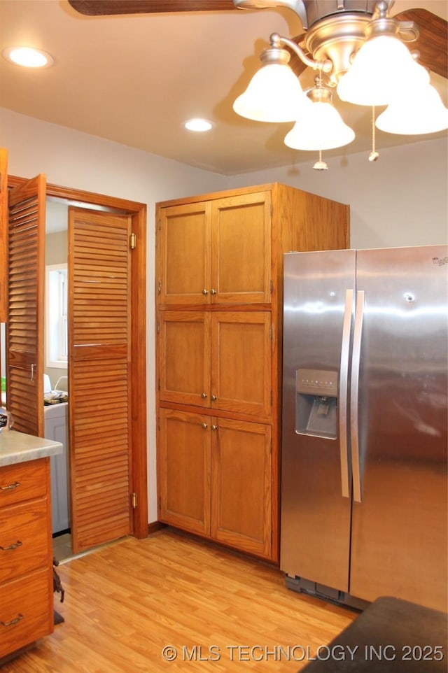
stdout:
POLYGON ((210 246, 209 202, 161 208, 161 304, 209 304, 210 246))

